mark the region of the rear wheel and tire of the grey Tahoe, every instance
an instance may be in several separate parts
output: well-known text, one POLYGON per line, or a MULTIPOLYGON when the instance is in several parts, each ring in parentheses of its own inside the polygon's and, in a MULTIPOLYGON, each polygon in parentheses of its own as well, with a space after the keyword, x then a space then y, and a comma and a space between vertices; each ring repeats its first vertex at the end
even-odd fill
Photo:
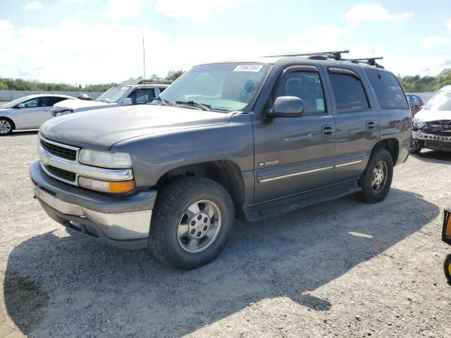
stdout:
POLYGON ((378 203, 385 199, 393 179, 393 158, 387 149, 373 149, 362 177, 359 180, 361 192, 356 194, 360 201, 378 203), (376 165, 378 166, 376 168, 376 165), (383 175, 381 175, 381 170, 383 175), (382 180, 382 182, 381 182, 382 180), (380 184, 377 184, 381 182, 380 184))

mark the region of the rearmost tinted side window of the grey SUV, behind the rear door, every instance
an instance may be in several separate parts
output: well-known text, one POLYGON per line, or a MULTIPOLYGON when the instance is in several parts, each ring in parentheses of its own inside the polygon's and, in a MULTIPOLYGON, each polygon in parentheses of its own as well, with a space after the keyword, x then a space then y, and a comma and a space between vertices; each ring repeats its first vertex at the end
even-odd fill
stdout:
MULTIPOLYGON (((406 96, 402 92, 400 83, 396 77, 390 73, 378 70, 366 69, 366 75, 373 86, 378 98, 379 105, 383 109, 409 109, 406 96)), ((416 102, 416 97, 412 95, 412 102, 416 102)))

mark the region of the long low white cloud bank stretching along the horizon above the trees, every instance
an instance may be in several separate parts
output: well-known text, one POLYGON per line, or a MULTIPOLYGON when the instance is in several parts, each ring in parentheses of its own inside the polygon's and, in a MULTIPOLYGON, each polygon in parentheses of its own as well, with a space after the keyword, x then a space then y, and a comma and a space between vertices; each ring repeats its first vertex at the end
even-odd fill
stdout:
MULTIPOLYGON (((346 43, 347 33, 352 29, 353 26, 312 27, 305 37, 296 40, 276 39, 270 43, 265 39, 245 37, 225 40, 199 37, 193 44, 159 30, 117 23, 88 25, 70 21, 49 27, 14 27, 9 20, 0 20, 0 74, 4 77, 72 84, 121 82, 142 75, 143 36, 147 51, 147 75, 156 73, 164 76, 169 70, 186 70, 192 65, 210 61, 343 49, 343 46, 352 51, 350 57, 373 56, 370 47, 346 43), (335 35, 332 36, 334 31, 335 35), (92 37, 93 32, 97 38, 83 38, 92 37), (325 36, 327 39, 321 38, 325 36), (118 41, 121 42, 120 48, 118 41), (158 50, 155 49, 156 41, 158 50), (202 49, 199 46, 209 48, 202 49), (180 51, 183 51, 183 58, 180 58, 180 51)), ((383 55, 382 64, 395 73, 416 74, 427 65, 431 67, 429 73, 435 75, 445 67, 439 66, 445 63, 445 59, 439 63, 426 56, 390 56, 384 51, 376 54, 383 55)))

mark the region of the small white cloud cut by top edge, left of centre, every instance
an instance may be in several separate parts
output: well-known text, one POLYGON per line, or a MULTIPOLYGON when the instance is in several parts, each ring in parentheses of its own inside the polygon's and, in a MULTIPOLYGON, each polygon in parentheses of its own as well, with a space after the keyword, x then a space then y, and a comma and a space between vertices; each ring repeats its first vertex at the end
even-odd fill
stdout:
MULTIPOLYGON (((247 0, 247 4, 253 3, 247 0)), ((232 0, 156 0, 156 11, 171 18, 189 18, 199 22, 209 19, 215 10, 230 6, 232 0)))

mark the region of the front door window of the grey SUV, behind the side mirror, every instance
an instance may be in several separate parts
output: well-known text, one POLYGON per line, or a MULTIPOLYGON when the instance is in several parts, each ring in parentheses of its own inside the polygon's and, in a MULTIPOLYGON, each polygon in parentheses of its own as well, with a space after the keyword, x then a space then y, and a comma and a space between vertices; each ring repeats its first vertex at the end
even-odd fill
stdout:
POLYGON ((297 96, 304 103, 305 115, 326 113, 323 86, 318 73, 292 72, 280 80, 276 88, 276 99, 279 96, 297 96))

